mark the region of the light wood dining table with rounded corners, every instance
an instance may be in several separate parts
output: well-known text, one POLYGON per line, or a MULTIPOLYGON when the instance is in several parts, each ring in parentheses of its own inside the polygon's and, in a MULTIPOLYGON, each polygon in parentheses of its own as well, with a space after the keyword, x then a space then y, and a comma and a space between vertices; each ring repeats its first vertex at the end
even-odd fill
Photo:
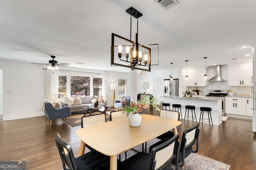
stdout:
POLYGON ((128 118, 120 118, 106 123, 84 127, 75 131, 81 139, 79 156, 84 154, 85 146, 110 156, 110 170, 117 169, 117 156, 142 143, 173 129, 178 134, 180 121, 142 114, 142 122, 138 127, 131 127, 128 118))

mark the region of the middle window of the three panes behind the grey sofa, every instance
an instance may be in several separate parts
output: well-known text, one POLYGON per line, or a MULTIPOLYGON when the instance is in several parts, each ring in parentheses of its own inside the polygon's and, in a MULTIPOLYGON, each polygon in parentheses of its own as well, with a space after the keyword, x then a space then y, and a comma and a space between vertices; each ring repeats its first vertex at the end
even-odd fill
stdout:
POLYGON ((70 76, 70 95, 71 96, 90 96, 90 77, 89 76, 70 76))

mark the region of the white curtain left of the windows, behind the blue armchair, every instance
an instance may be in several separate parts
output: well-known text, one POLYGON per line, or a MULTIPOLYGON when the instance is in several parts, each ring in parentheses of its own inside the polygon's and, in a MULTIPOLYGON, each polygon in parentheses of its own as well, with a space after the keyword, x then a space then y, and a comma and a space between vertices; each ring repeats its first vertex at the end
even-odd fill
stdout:
POLYGON ((58 70, 46 70, 46 84, 45 84, 45 96, 46 99, 51 100, 51 94, 58 94, 58 70))

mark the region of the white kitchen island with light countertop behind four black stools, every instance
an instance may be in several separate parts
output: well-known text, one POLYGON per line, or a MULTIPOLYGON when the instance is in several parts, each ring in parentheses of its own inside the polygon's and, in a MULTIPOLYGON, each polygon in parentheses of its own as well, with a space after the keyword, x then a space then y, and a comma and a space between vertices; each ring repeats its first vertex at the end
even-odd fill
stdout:
MULTIPOLYGON (((200 107, 211 107, 212 123, 214 125, 219 125, 222 123, 222 100, 214 98, 205 98, 205 97, 164 97, 164 103, 170 103, 172 109, 172 104, 180 104, 182 111, 182 118, 184 120, 186 105, 195 106, 196 120, 199 121, 200 118, 200 107)), ((189 111, 191 116, 191 111, 189 111)), ((204 111, 204 118, 208 118, 207 111, 204 111)), ((186 118, 187 120, 187 118, 186 118)), ((191 119, 192 120, 192 119, 191 119)), ((201 121, 202 122, 202 121, 201 121)), ((204 122, 208 123, 208 122, 204 122)))

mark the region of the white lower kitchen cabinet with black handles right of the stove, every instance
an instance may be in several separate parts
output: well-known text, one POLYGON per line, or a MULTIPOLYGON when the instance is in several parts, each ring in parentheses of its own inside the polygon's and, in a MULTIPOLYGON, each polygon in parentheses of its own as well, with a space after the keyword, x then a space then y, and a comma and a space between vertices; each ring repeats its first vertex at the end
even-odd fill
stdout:
POLYGON ((246 98, 225 98, 225 113, 246 115, 246 98))

